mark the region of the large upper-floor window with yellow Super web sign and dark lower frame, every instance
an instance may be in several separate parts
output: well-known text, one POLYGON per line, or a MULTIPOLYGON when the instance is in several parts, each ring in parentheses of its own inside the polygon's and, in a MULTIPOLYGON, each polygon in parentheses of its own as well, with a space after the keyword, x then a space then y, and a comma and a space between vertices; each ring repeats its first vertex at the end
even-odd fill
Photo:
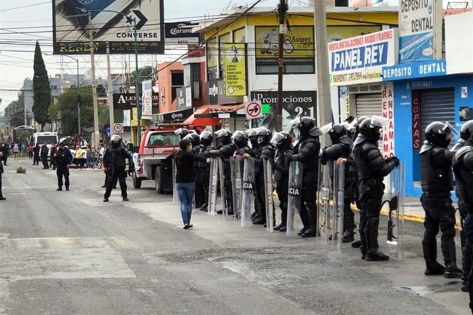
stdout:
MULTIPOLYGON (((256 74, 278 71, 279 27, 255 27, 256 74)), ((284 36, 285 74, 315 73, 314 27, 293 26, 284 36)))

